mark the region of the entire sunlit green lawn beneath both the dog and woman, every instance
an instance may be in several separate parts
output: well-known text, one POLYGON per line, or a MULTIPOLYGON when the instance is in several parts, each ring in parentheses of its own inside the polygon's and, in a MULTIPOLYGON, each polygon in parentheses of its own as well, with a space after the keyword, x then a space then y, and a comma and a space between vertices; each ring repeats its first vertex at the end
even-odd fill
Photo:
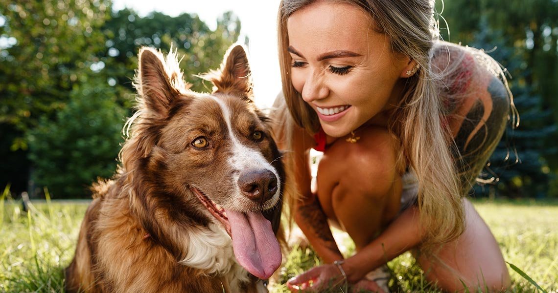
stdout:
MULTIPOLYGON (((547 292, 558 292, 558 202, 474 204, 496 236, 505 260, 517 267, 517 271, 509 270, 512 292, 537 292, 535 283, 547 292)), ((21 202, 0 201, 0 292, 61 292, 62 269, 74 255, 86 207, 86 203, 35 203, 26 213, 21 202)), ((345 253, 353 251, 350 240, 343 246, 345 253)), ((319 262, 309 248, 295 248, 286 256, 270 291, 288 292, 286 280, 319 262)), ((436 291, 409 253, 388 266, 393 272, 392 291, 436 291)))

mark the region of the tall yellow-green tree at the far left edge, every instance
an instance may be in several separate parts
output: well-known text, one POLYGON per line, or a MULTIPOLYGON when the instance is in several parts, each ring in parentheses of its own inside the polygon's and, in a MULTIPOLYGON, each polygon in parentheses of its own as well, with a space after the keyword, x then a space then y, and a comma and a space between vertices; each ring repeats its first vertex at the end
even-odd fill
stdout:
POLYGON ((107 0, 0 0, 0 184, 26 189, 27 131, 51 118, 88 69, 109 16, 107 0))

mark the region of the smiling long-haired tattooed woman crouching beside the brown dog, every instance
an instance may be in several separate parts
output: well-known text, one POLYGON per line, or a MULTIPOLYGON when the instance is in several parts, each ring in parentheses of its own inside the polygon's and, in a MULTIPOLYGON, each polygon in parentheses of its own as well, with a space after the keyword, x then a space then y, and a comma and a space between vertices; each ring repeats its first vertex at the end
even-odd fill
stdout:
POLYGON ((439 41, 430 0, 283 0, 275 134, 298 226, 326 263, 292 291, 378 290, 367 274, 411 250, 443 290, 502 290, 509 275, 463 196, 513 109, 490 57, 439 41), (311 188, 309 150, 324 152, 311 188), (329 225, 347 231, 343 259, 329 225), (333 283, 332 283, 333 282, 333 283))

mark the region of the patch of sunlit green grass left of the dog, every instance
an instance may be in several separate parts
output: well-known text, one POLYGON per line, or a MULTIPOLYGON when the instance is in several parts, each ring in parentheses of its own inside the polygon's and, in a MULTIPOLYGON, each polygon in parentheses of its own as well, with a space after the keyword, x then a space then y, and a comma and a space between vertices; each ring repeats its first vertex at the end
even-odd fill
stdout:
POLYGON ((0 202, 0 291, 64 292, 62 269, 74 255, 86 203, 38 204, 27 214, 21 202, 0 202))

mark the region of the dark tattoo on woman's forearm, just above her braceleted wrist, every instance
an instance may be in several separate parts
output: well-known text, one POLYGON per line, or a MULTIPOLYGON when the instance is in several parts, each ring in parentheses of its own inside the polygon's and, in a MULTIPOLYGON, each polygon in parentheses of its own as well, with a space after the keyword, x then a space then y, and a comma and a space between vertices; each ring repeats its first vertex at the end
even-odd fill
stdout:
POLYGON ((318 197, 313 196, 312 199, 300 203, 298 212, 299 216, 302 217, 302 221, 307 224, 306 227, 311 229, 311 231, 323 241, 323 246, 331 251, 339 252, 337 243, 335 243, 335 239, 329 228, 328 217, 321 208, 318 197))

